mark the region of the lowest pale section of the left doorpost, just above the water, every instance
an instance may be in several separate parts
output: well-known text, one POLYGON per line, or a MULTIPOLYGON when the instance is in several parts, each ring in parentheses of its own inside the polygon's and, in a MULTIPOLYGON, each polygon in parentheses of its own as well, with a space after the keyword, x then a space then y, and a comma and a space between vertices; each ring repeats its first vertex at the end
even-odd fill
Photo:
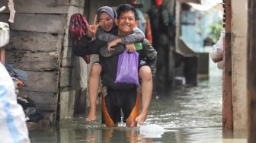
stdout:
POLYGON ((65 119, 70 119, 74 115, 75 91, 60 92, 59 100, 59 118, 62 122, 65 119))

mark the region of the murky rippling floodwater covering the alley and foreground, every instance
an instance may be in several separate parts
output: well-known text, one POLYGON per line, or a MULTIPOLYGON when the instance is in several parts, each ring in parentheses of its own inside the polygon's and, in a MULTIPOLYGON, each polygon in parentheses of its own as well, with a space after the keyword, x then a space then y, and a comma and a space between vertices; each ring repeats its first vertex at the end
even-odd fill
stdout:
POLYGON ((60 129, 30 131, 34 143, 78 142, 178 142, 219 143, 247 142, 244 132, 222 132, 222 71, 210 64, 210 78, 199 80, 197 87, 175 87, 168 94, 154 94, 146 126, 158 125, 158 131, 150 128, 117 128, 101 125, 101 111, 95 122, 85 122, 81 116, 60 126, 60 129))

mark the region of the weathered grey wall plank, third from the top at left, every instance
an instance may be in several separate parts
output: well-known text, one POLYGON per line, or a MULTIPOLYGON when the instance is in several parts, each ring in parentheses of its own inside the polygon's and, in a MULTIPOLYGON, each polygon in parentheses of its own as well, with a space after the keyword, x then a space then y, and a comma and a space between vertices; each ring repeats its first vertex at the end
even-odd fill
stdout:
POLYGON ((30 51, 59 51, 62 48, 63 34, 38 33, 11 30, 7 49, 30 51))

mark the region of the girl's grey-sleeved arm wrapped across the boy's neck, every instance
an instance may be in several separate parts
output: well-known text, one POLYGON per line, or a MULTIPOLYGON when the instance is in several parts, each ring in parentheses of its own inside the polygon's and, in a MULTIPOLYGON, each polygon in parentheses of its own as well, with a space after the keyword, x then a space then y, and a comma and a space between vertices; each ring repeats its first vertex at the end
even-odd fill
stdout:
POLYGON ((114 34, 106 33, 101 28, 98 28, 96 33, 96 38, 104 42, 111 42, 113 40, 117 40, 116 43, 127 44, 127 43, 142 42, 142 40, 145 38, 145 35, 142 32, 142 30, 139 30, 139 28, 137 27, 133 29, 133 33, 125 37, 118 37, 114 34))

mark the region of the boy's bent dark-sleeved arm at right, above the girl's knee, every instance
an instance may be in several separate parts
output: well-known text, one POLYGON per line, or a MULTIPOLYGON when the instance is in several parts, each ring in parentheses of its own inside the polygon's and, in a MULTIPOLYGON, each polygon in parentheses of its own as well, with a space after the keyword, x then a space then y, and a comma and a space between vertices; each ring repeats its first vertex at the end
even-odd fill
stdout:
POLYGON ((142 43, 142 52, 146 56, 146 65, 149 65, 152 75, 155 76, 155 65, 157 59, 157 52, 149 43, 149 40, 144 39, 142 43))

